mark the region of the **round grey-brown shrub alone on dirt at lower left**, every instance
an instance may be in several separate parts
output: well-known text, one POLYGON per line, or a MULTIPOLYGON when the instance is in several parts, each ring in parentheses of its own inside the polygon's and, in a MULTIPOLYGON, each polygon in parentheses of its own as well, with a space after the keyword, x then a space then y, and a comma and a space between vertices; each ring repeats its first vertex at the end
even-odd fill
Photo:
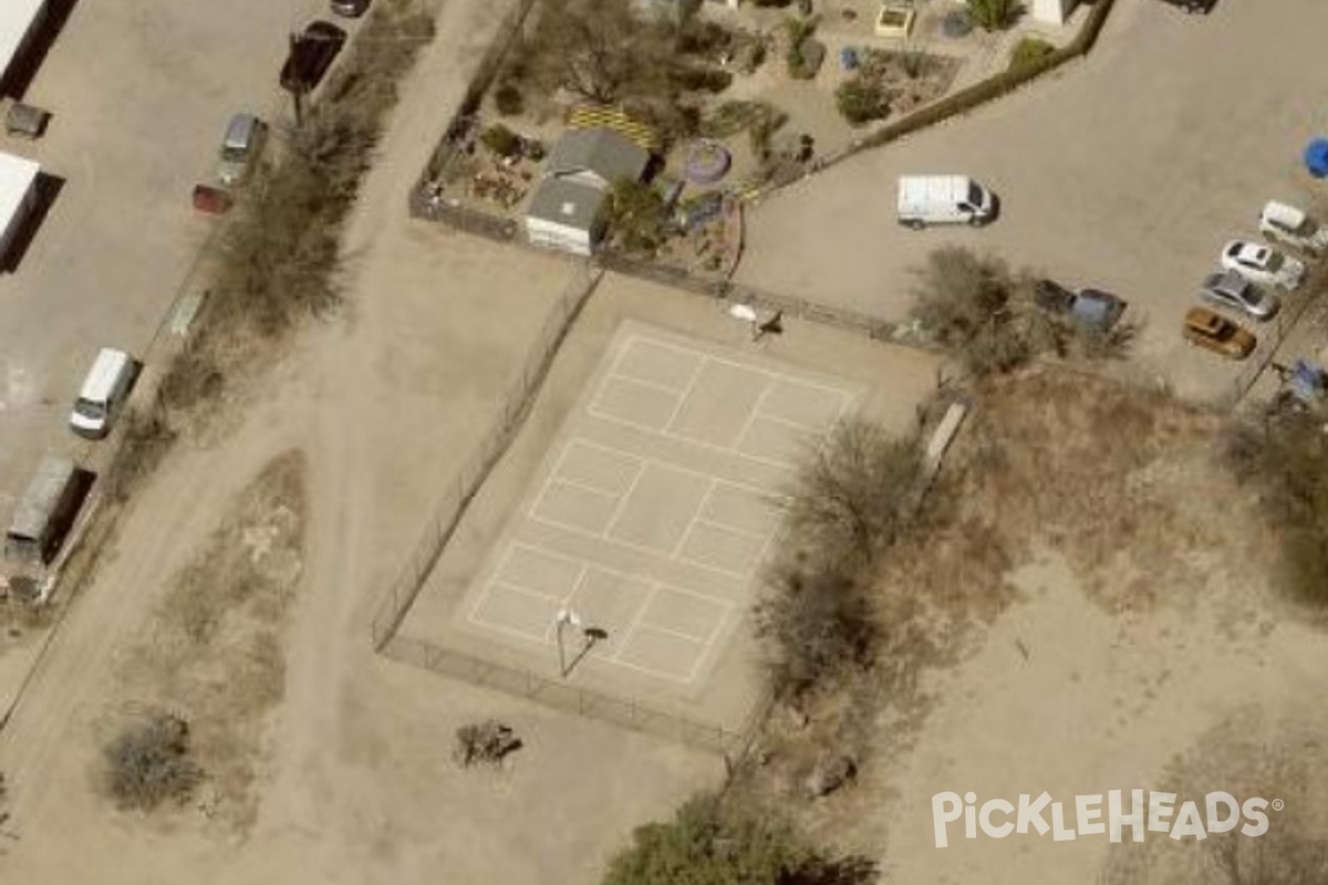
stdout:
POLYGON ((122 808, 150 811, 185 801, 203 778, 189 754, 189 723, 155 713, 120 732, 104 751, 106 784, 122 808))

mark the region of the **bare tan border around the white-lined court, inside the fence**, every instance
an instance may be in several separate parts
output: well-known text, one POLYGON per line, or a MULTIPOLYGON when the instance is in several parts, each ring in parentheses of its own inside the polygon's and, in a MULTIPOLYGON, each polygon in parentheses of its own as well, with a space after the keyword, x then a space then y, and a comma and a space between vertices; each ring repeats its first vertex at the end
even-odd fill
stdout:
MULTIPOLYGON (((862 336, 795 320, 784 321, 782 334, 766 336, 754 342, 750 325, 729 317, 712 300, 628 277, 606 277, 560 349, 522 433, 481 491, 416 608, 409 613, 404 634, 547 674, 556 661, 551 649, 535 646, 538 650, 531 653, 527 642, 509 644, 490 632, 475 630, 473 625, 465 624, 463 614, 458 616, 457 609, 463 606, 467 588, 485 568, 485 557, 505 539, 505 521, 519 512, 518 506, 530 483, 540 479, 540 462, 550 452, 558 451, 558 443, 567 433, 591 423, 575 409, 578 398, 587 383, 595 379, 596 364, 606 358, 607 348, 627 321, 649 324, 635 328, 668 330, 679 336, 677 340, 692 342, 689 346, 726 354, 726 360, 742 365, 773 366, 780 372, 831 378, 825 383, 842 385, 859 394, 854 406, 859 414, 899 434, 911 430, 916 407, 935 389, 940 362, 932 354, 879 345, 862 336)), ((683 386, 688 379, 683 377, 676 381, 683 386)), ((830 393, 825 397, 829 398, 830 393)), ((738 399, 734 407, 746 409, 748 405, 738 399)), ((717 417, 710 421, 722 427, 717 417)), ((648 438, 644 444, 659 446, 665 454, 691 454, 677 446, 661 443, 659 438, 648 438)), ((725 456, 721 463, 729 467, 736 460, 741 459, 725 456)), ((740 475, 753 475, 753 464, 730 468, 740 471, 740 475)), ((554 541, 566 543, 566 536, 555 536, 554 541)), ((624 553, 622 545, 608 540, 596 540, 595 544, 603 544, 596 552, 604 556, 635 556, 631 551, 624 553)), ((640 568, 647 567, 673 575, 681 584, 695 575, 695 568, 683 567, 677 561, 661 564, 649 556, 640 561, 640 568)), ((713 580, 712 576, 706 577, 713 580)), ((758 653, 748 624, 741 617, 752 597, 752 584, 749 576, 741 580, 726 577, 717 584, 733 593, 728 597, 733 604, 733 620, 742 622, 733 625, 736 629, 732 640, 726 638, 714 649, 713 674, 679 686, 652 681, 644 671, 620 671, 615 675, 611 667, 600 670, 596 666, 578 671, 574 685, 587 685, 614 697, 640 698, 655 707, 696 720, 737 727, 746 718, 753 698, 760 694, 753 667, 758 653)), ((554 673, 556 674, 556 669, 554 673)))

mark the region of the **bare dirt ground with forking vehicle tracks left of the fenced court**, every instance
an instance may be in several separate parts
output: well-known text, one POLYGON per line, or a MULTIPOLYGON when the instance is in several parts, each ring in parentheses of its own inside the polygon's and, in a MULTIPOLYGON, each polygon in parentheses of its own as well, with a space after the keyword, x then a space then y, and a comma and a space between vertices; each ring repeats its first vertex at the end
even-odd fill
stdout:
POLYGON ((591 882, 632 824, 718 779, 714 756, 369 649, 377 594, 572 273, 555 257, 405 219, 404 195, 445 123, 438 109, 459 101, 501 12, 440 12, 440 38, 404 84, 389 159, 347 238, 347 316, 244 391, 238 419, 182 443, 60 626, 0 731, 12 815, 0 880, 422 884, 446 870, 457 882, 591 882), (305 571, 282 644, 284 701, 246 726, 255 742, 239 747, 262 796, 252 823, 208 821, 193 807, 154 820, 114 812, 96 791, 104 723, 159 685, 124 678, 118 662, 235 496, 287 451, 308 464, 305 571), (489 715, 515 726, 526 748, 499 771, 458 770, 456 728, 489 715))

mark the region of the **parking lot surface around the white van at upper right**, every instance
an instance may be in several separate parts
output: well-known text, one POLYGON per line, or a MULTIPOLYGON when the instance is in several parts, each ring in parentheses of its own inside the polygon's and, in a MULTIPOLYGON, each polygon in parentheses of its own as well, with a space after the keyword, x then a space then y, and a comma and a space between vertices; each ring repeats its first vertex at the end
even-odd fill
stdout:
POLYGON ((1207 17, 1117 3, 1085 61, 754 208, 738 279, 903 318, 927 252, 991 249, 1120 293, 1145 325, 1147 372, 1183 395, 1224 393, 1235 368, 1187 349, 1181 317, 1223 243, 1258 238, 1266 200, 1328 198, 1300 165, 1305 142, 1328 134, 1324 33, 1319 0, 1219 0, 1207 17), (895 179, 910 172, 969 174, 1003 215, 980 231, 900 228, 895 179))

